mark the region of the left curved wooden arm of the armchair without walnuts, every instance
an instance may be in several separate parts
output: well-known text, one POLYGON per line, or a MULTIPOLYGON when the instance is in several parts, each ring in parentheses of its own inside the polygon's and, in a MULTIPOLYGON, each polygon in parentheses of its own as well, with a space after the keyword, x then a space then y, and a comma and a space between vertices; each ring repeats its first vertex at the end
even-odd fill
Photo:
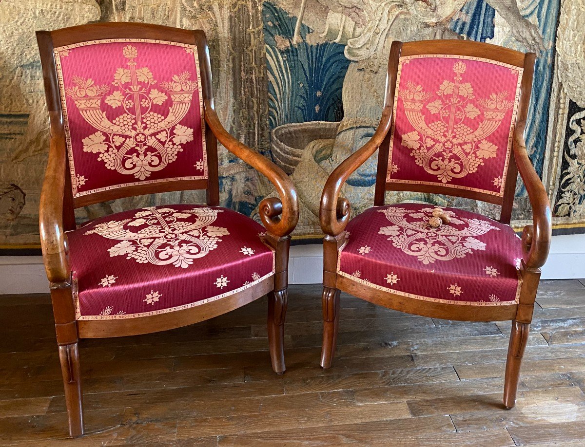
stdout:
MULTIPOLYGON (((51 122, 60 118, 52 116, 51 122)), ((60 133, 51 135, 49 162, 40 196, 39 227, 44 268, 51 283, 68 282, 71 277, 67 257, 67 237, 63 228, 63 193, 65 189, 65 141, 60 133)))

